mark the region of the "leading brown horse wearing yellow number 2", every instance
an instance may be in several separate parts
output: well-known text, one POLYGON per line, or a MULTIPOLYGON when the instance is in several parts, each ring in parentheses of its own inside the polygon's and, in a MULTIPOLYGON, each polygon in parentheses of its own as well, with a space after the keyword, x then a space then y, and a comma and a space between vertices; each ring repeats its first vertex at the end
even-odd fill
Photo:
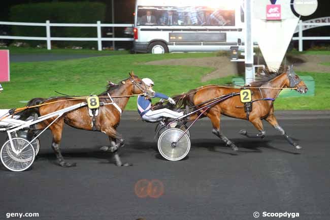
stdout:
MULTIPOLYGON (((282 129, 277 122, 274 115, 274 101, 278 97, 283 88, 295 88, 300 93, 306 93, 308 88, 306 84, 293 71, 293 66, 287 69, 280 68, 278 71, 263 70, 263 75, 258 75, 258 80, 251 83, 252 92, 252 111, 247 117, 239 96, 226 99, 223 102, 215 104, 207 110, 202 117, 209 117, 213 126, 212 133, 223 140, 233 150, 238 150, 238 147, 230 141, 220 130, 220 116, 221 114, 249 120, 254 127, 259 131, 256 135, 250 135, 245 130, 241 130, 240 134, 250 138, 263 138, 266 132, 263 130, 262 119, 268 121, 277 131, 283 135, 286 140, 296 149, 301 147, 295 143, 282 129)), ((248 88, 248 87, 246 87, 248 88)), ((192 89, 182 95, 173 97, 175 102, 179 105, 178 108, 186 106, 196 106, 201 103, 216 97, 227 95, 228 93, 240 92, 240 88, 233 88, 229 86, 207 85, 200 88, 192 89)), ((203 104, 199 107, 205 106, 209 103, 203 104)), ((199 108, 197 107, 197 108, 199 108)), ((204 109, 203 109, 204 110, 204 109)), ((201 110, 200 112, 202 112, 201 110)), ((188 121, 194 120, 200 112, 192 114, 188 121)))

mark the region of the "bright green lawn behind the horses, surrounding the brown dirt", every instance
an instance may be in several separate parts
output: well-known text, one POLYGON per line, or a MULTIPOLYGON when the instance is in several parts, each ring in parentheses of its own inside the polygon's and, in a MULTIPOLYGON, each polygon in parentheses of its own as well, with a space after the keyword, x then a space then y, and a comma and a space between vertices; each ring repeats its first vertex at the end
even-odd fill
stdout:
MULTIPOLYGON (((206 84, 228 83, 235 76, 201 82, 212 68, 192 66, 150 66, 144 62, 160 59, 211 57, 215 53, 172 53, 163 55, 134 54, 102 56, 85 59, 47 62, 17 62, 11 64, 11 82, 2 83, 0 109, 22 107, 20 101, 36 97, 58 96, 54 90, 68 95, 90 95, 105 90, 107 80, 119 82, 134 70, 141 78, 150 77, 156 91, 169 96, 206 84)), ((299 73, 315 79, 315 97, 279 98, 276 109, 330 109, 330 73, 299 73)), ((126 109, 136 110, 136 98, 131 98, 126 109)))

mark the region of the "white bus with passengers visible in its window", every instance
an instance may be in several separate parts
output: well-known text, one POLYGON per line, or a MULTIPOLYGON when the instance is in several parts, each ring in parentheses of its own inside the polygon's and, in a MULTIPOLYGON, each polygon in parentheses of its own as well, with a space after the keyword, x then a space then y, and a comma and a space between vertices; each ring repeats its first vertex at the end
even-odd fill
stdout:
POLYGON ((242 47, 242 0, 137 0, 134 51, 208 52, 242 47))

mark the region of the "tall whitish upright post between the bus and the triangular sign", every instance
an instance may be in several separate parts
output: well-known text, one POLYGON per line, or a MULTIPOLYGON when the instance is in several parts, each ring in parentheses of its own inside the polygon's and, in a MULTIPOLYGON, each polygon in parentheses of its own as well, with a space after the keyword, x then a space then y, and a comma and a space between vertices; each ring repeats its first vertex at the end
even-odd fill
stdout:
POLYGON ((244 0, 245 5, 245 84, 254 80, 253 39, 252 39, 252 1, 244 0))

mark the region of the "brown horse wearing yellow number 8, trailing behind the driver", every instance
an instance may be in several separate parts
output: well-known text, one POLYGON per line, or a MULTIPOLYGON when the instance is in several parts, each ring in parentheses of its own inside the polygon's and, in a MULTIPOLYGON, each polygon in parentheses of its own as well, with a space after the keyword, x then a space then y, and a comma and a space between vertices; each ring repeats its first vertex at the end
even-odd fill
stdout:
MULTIPOLYGON (((113 152, 117 166, 129 166, 129 164, 127 163, 123 164, 118 155, 118 149, 124 145, 124 140, 121 138, 121 135, 116 131, 116 128, 118 127, 120 122, 121 111, 125 109, 129 97, 141 93, 148 94, 149 92, 152 91, 150 91, 147 85, 138 76, 134 75, 134 72, 132 71, 131 73, 129 73, 129 78, 121 81, 119 84, 109 82, 107 90, 98 95, 100 103, 103 102, 104 105, 100 106, 100 108, 98 109, 98 115, 96 116, 96 120, 94 120, 94 122, 92 117, 89 116, 87 106, 75 109, 68 113, 64 113, 63 116, 57 119, 49 127, 53 135, 51 146, 56 154, 57 164, 62 167, 76 166, 76 163, 65 162, 60 152, 59 144, 62 137, 63 125, 64 123, 67 123, 71 127, 77 129, 99 131, 108 135, 110 139, 110 147, 103 146, 101 147, 101 150, 113 152)), ((27 106, 35 106, 36 104, 42 106, 26 109, 20 113, 20 117, 26 118, 35 113, 37 113, 39 116, 42 116, 86 101, 86 99, 73 99, 74 97, 32 99, 31 101, 29 101, 27 106), (47 103, 49 104, 47 105, 47 103)), ((34 130, 42 130, 46 128, 47 125, 49 125, 55 118, 56 117, 53 117, 36 124, 34 130)))

